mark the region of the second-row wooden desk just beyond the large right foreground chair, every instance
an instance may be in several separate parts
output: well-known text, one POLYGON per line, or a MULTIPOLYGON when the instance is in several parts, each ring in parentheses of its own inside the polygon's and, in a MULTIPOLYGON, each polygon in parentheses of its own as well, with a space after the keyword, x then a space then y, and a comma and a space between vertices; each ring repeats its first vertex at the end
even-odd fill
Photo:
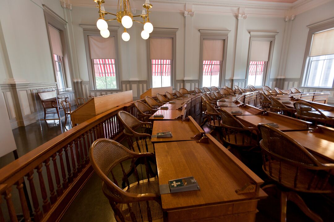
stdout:
POLYGON ((311 130, 311 122, 295 119, 289 116, 277 114, 275 112, 266 111, 268 115, 238 115, 236 116, 245 126, 258 127, 259 123, 277 123, 277 129, 286 131, 302 131, 311 130))

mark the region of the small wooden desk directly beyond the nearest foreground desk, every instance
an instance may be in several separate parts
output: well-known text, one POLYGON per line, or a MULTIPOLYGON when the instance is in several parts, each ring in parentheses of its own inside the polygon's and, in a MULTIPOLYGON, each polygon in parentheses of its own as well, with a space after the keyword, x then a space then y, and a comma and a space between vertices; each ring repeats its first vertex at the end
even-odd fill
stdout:
POLYGON ((152 135, 156 135, 158 132, 170 131, 173 136, 169 138, 152 137, 152 143, 198 140, 199 138, 190 137, 193 137, 196 134, 204 134, 205 132, 191 116, 189 116, 189 119, 189 121, 154 121, 152 135))

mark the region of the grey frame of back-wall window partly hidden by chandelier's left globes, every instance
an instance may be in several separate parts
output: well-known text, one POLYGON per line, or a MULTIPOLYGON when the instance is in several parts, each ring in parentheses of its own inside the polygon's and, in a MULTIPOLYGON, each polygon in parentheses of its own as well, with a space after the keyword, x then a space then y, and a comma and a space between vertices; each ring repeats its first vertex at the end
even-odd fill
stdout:
MULTIPOLYGON (((94 91, 117 91, 119 92, 122 89, 121 85, 121 71, 120 71, 120 57, 119 57, 119 42, 118 42, 118 26, 108 26, 108 29, 110 31, 110 37, 115 38, 115 50, 116 50, 116 63, 115 63, 115 69, 116 69, 116 89, 96 89, 96 82, 95 82, 95 76, 94 76, 94 65, 93 60, 91 59, 91 52, 89 50, 89 42, 88 42, 88 36, 101 36, 100 30, 98 28, 95 28, 94 26, 90 28, 83 28, 83 40, 85 42, 85 51, 86 51, 86 59, 87 59, 87 69, 88 69, 88 77, 89 77, 89 84, 92 90, 94 91)), ((109 59, 109 58, 105 58, 109 59)))

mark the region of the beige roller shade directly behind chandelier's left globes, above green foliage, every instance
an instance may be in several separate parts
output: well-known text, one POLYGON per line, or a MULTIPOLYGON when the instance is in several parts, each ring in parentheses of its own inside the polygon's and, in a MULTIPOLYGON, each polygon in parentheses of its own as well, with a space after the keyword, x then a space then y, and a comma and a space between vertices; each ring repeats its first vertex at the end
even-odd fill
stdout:
POLYGON ((115 37, 88 36, 91 59, 116 59, 115 37))

